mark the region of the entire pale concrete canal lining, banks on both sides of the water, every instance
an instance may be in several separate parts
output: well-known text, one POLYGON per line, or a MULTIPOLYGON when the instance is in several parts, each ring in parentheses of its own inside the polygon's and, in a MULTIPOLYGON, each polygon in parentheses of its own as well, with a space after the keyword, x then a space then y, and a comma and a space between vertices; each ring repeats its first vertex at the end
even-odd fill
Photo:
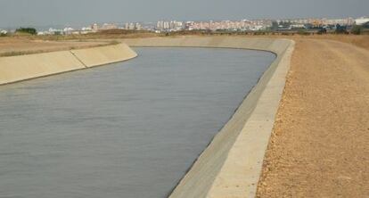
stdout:
MULTIPOLYGON (((131 46, 222 47, 269 51, 275 62, 234 116, 214 137, 171 197, 254 197, 275 113, 283 94, 294 42, 247 37, 152 37, 125 39, 131 46)), ((127 45, 0 58, 0 85, 136 56, 127 45)), ((247 93, 244 93, 245 95, 247 93)))

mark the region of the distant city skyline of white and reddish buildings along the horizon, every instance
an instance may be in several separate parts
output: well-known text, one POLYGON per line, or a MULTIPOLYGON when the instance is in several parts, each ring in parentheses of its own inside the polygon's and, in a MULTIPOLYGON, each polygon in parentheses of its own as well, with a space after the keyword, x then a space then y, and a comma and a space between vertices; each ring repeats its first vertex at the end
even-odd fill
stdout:
MULTIPOLYGON (((346 30, 352 29, 355 25, 367 27, 369 18, 342 18, 342 19, 277 19, 277 20, 242 20, 242 21, 156 21, 156 22, 126 22, 117 23, 93 23, 83 27, 48 27, 46 29, 36 29, 37 35, 83 35, 96 33, 110 29, 126 30, 147 30, 155 33, 175 32, 182 30, 206 30, 206 31, 232 31, 232 32, 252 32, 252 31, 290 31, 310 33, 319 31, 336 31, 337 28, 346 30)), ((36 28, 36 27, 34 27, 36 28)), ((16 29, 0 29, 0 33, 7 34, 15 32, 16 29)))

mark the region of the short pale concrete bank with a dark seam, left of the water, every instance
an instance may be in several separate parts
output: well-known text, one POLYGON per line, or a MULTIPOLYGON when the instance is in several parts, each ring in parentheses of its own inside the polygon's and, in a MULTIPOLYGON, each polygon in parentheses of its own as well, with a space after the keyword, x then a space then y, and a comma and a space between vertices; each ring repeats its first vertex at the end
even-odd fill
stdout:
POLYGON ((136 55, 128 45, 119 44, 44 54, 1 57, 0 85, 71 70, 82 70, 112 62, 122 62, 134 58, 136 55))

